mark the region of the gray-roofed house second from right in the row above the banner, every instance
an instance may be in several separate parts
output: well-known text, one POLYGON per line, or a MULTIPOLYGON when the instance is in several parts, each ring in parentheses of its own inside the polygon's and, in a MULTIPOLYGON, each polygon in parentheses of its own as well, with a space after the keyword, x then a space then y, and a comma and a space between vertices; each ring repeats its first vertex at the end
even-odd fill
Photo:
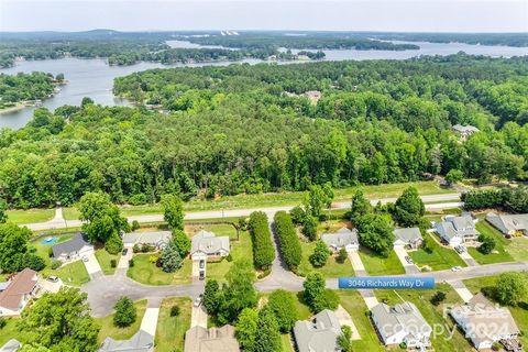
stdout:
POLYGON ((469 215, 461 217, 447 216, 443 221, 435 223, 435 230, 451 246, 475 241, 480 234, 475 229, 473 218, 469 215))

